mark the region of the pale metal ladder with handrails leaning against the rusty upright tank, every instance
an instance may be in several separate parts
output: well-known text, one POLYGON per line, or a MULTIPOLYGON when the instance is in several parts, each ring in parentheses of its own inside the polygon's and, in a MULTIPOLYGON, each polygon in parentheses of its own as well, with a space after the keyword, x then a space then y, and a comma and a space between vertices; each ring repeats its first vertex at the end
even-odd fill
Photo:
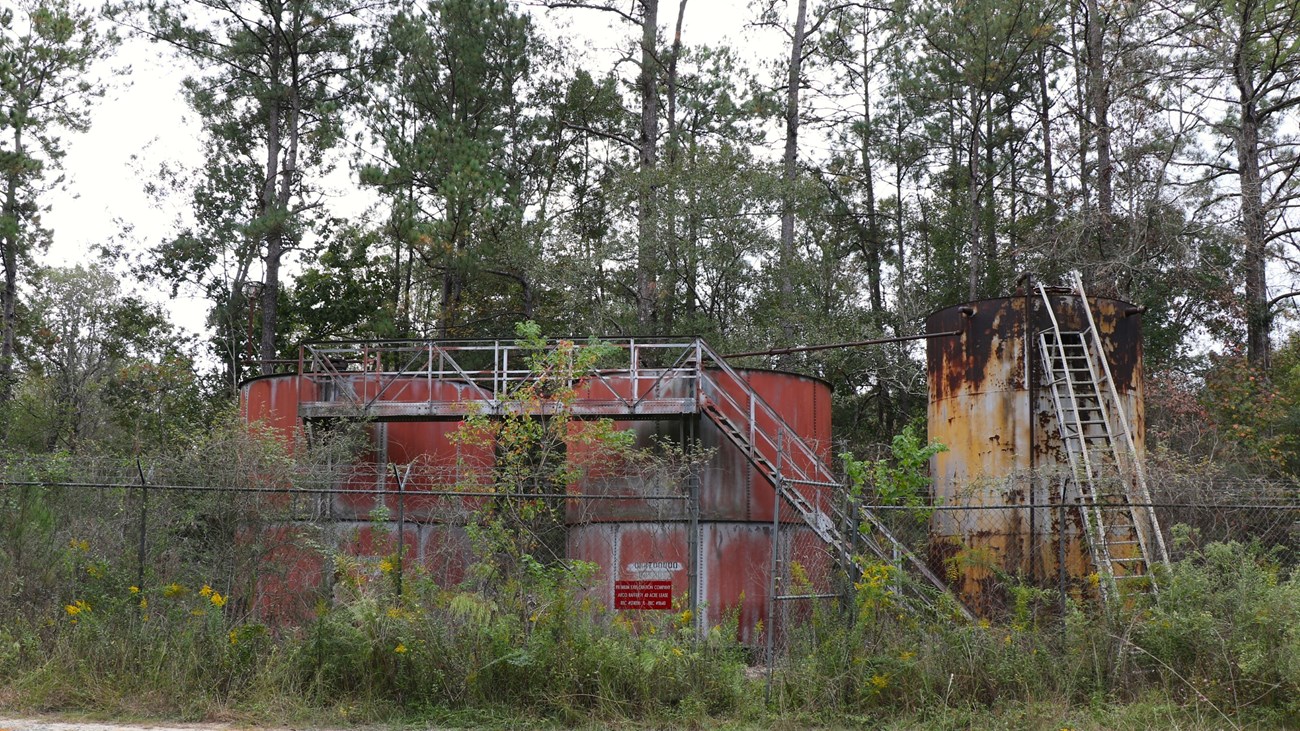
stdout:
POLYGON ((1167 565, 1169 554, 1079 272, 1070 273, 1070 284, 1083 307, 1084 329, 1061 329, 1046 287, 1039 282, 1052 324, 1039 332, 1039 354, 1078 486, 1097 585, 1109 602, 1121 597, 1121 583, 1145 580, 1154 591, 1152 566, 1167 565))

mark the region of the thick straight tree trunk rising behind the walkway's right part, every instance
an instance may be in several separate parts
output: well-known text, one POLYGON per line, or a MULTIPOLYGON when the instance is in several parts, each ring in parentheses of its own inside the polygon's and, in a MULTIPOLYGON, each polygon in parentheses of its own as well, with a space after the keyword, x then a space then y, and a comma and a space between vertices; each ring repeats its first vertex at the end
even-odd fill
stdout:
POLYGON ((655 329, 655 271, 658 268, 656 186, 653 185, 659 160, 658 34, 659 0, 641 0, 641 185, 637 209, 637 325, 641 334, 655 329))

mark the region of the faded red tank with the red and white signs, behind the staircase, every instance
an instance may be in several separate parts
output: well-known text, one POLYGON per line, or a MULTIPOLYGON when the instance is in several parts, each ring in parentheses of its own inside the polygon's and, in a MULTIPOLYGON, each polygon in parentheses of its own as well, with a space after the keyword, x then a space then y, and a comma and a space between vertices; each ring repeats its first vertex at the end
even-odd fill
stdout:
MULTIPOLYGON (((823 459, 831 458, 831 386, 809 376, 780 371, 737 369, 737 373, 823 459)), ((640 476, 592 475, 584 493, 633 496, 628 501, 593 501, 571 507, 568 555, 601 566, 598 592, 614 606, 615 583, 672 583, 685 602, 696 584, 701 626, 720 624, 737 614, 740 640, 757 644, 771 583, 775 490, 727 436, 707 418, 690 420, 616 421, 634 429, 637 442, 655 437, 694 441, 711 457, 698 472, 698 519, 686 501, 636 499, 659 492, 640 476)), ((682 490, 675 490, 679 494, 682 490)), ((812 502, 831 499, 826 488, 806 488, 812 502)), ((816 533, 788 505, 777 518, 779 553, 811 578, 829 576, 831 554, 816 533)), ((685 609, 685 606, 682 606, 685 609)))

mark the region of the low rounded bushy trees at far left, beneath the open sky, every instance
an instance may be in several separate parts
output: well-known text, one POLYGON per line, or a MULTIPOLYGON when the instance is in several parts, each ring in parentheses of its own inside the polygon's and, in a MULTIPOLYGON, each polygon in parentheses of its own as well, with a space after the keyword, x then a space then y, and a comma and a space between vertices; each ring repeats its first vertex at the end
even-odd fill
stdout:
POLYGON ((148 454, 202 428, 192 343, 160 307, 124 294, 101 264, 39 269, 36 282, 23 380, 0 411, 10 447, 148 454))

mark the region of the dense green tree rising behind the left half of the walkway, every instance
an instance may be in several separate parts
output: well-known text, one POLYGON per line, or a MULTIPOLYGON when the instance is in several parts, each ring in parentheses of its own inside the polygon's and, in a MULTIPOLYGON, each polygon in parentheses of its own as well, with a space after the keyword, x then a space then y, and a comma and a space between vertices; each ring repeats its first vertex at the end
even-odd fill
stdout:
POLYGON ((399 326, 436 321, 443 337, 497 334, 533 316, 524 209, 540 140, 524 104, 540 46, 528 16, 499 0, 395 10, 367 114, 380 155, 360 172, 389 204, 389 310, 399 326))

